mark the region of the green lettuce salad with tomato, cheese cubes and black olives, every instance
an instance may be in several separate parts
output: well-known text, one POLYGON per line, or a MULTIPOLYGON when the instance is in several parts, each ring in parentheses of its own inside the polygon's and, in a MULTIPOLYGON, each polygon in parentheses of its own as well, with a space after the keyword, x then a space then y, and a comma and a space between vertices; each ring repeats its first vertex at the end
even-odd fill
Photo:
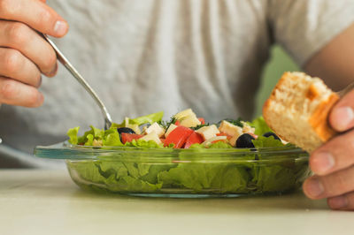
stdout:
POLYGON ((73 145, 118 149, 94 161, 67 161, 74 181, 114 193, 250 194, 286 192, 308 175, 307 155, 276 136, 263 117, 206 124, 183 110, 162 119, 162 112, 126 118, 81 136, 79 127, 70 129, 73 145))

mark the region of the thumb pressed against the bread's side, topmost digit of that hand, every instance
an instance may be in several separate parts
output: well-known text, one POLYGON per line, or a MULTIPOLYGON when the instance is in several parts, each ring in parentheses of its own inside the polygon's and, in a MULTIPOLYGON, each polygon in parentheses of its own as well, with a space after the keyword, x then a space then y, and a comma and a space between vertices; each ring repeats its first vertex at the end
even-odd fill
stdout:
POLYGON ((329 115, 329 122, 339 132, 354 127, 354 90, 344 95, 329 115))

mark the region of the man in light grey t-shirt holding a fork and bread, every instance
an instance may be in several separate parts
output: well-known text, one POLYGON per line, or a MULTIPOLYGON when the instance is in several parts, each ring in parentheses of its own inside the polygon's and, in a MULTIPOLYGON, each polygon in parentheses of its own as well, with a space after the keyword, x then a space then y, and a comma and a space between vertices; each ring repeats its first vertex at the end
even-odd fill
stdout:
MULTIPOLYGON (((42 164, 23 152, 65 140, 68 128, 103 124, 95 103, 58 71, 55 52, 37 34, 64 36, 65 19, 71 31, 59 48, 116 120, 188 107, 210 121, 250 119, 273 42, 335 90, 354 78, 352 0, 61 0, 49 1, 51 8, 45 2, 0 1, 2 159, 21 165, 42 164), (55 79, 41 79, 57 71, 55 79)), ((314 152, 317 175, 304 184, 309 197, 328 198, 331 208, 354 208, 353 109, 351 91, 330 117, 343 134, 314 152)))

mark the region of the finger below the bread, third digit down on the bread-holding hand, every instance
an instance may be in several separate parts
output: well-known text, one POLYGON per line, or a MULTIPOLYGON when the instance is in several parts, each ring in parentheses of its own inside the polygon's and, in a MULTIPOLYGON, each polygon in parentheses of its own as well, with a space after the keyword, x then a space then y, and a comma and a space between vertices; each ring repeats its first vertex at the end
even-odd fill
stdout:
POLYGON ((312 199, 329 198, 354 191, 354 167, 304 181, 304 193, 312 199))

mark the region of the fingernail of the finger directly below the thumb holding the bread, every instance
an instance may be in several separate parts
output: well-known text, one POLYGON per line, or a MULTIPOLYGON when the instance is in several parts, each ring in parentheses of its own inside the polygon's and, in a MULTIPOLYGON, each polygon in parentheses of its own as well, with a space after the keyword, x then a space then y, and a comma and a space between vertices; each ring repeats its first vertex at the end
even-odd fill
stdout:
POLYGON ((335 158, 328 152, 319 152, 312 155, 312 171, 322 175, 335 166, 335 158))

